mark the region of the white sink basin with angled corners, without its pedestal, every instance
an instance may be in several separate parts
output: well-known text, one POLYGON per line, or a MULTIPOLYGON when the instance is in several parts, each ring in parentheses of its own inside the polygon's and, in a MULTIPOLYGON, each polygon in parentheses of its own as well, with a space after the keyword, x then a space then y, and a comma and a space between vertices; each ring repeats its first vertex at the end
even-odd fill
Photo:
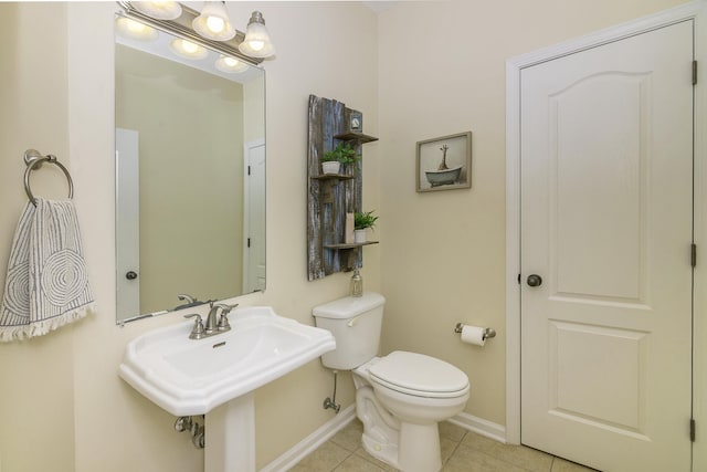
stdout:
POLYGON ((231 312, 231 331, 189 339, 193 321, 128 343, 120 377, 170 413, 205 415, 336 347, 326 329, 278 316, 268 306, 231 312))

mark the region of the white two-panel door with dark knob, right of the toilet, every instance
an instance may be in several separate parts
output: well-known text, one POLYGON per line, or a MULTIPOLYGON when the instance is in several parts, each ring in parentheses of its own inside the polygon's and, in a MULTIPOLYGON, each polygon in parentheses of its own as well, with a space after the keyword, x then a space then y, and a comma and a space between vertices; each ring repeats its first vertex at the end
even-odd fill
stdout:
POLYGON ((603 471, 689 470, 692 62, 684 21, 521 71, 521 442, 603 471))

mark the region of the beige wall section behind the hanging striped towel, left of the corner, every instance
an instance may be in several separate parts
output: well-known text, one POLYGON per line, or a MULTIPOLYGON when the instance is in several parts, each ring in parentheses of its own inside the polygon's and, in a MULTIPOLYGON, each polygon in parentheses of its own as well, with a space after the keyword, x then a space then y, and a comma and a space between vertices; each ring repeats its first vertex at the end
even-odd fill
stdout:
MULTIPOLYGON (((68 153, 65 7, 0 3, 0 42, 8 45, 0 53, 0 283, 4 287, 12 234, 27 202, 22 154, 28 148, 57 156, 68 153), (38 21, 44 25, 40 32, 27 34, 38 21), (49 40, 51 54, 24 54, 41 51, 49 40)), ((44 167, 32 172, 34 193, 65 196, 61 171, 44 167)), ((51 463, 60 464, 61 471, 73 470, 73 348, 68 333, 0 345, 2 471, 49 470, 51 463), (42 444, 41 453, 36 444, 42 444)))

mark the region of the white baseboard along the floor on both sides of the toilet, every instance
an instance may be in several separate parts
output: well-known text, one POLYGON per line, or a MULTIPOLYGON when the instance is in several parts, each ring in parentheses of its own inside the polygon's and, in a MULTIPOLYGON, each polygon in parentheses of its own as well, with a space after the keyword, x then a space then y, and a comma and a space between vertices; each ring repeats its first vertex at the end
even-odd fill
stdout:
MULTIPOLYGON (((341 410, 337 416, 324 423, 315 432, 299 441, 291 450, 265 465, 260 472, 284 472, 294 468, 299 461, 328 441, 356 418, 356 405, 341 410)), ((458 413, 449 420, 458 427, 477 434, 506 443, 506 428, 468 413, 458 413)))

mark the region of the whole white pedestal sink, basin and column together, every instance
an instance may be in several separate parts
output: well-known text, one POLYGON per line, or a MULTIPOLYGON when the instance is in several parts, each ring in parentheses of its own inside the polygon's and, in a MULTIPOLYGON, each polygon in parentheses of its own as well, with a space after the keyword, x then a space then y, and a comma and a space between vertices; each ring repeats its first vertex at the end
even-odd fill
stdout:
POLYGON ((205 415, 205 472, 255 471, 253 390, 336 347, 326 329, 267 306, 231 312, 231 331, 189 339, 193 322, 126 346, 118 373, 177 417, 205 415))

